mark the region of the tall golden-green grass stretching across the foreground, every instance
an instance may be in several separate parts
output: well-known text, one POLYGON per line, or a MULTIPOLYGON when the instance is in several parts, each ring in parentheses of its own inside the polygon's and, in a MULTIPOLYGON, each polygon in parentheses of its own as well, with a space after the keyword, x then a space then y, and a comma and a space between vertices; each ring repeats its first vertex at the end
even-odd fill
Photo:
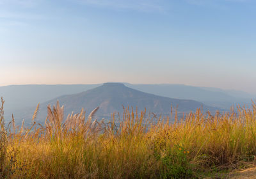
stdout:
POLYGON ((129 109, 109 123, 93 120, 97 109, 63 120, 57 103, 40 125, 36 111, 31 127, 6 127, 2 103, 0 178, 200 178, 255 160, 254 103, 214 116, 198 109, 174 123, 129 109))

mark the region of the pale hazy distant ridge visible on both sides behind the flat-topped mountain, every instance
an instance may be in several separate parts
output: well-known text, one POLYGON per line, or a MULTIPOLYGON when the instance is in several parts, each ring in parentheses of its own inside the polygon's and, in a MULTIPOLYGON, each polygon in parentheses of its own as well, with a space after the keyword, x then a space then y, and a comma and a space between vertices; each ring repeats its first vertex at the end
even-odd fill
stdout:
MULTIPOLYGON (((227 91, 218 88, 201 88, 196 86, 186 86, 181 84, 129 84, 125 86, 145 93, 152 93, 168 98, 179 98, 186 100, 196 100, 205 105, 229 110, 231 105, 251 104, 251 99, 255 95, 244 93, 243 91, 227 91)), ((23 118, 29 120, 31 112, 34 111, 38 103, 45 102, 63 96, 84 93, 88 89, 101 86, 102 84, 69 84, 69 85, 12 85, 1 86, 0 96, 4 97, 6 121, 12 119, 12 114, 17 121, 23 118)), ((137 106, 137 105, 136 105, 137 106)), ((180 109, 180 108, 179 108, 180 109)))

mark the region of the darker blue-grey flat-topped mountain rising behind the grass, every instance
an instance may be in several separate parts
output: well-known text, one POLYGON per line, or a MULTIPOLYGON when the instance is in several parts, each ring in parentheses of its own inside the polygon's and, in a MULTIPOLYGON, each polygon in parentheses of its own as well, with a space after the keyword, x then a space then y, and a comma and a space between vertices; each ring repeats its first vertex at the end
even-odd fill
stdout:
POLYGON ((59 100, 60 105, 64 105, 65 114, 79 113, 83 107, 89 114, 95 107, 100 107, 97 112, 98 116, 110 116, 111 113, 122 113, 124 107, 138 107, 138 110, 144 110, 156 114, 170 114, 171 105, 178 106, 179 112, 188 113, 195 111, 196 108, 203 107, 204 110, 214 111, 216 108, 209 107, 195 100, 179 100, 175 98, 161 97, 144 93, 136 89, 128 88, 121 83, 105 83, 97 88, 89 89, 82 93, 73 95, 63 95, 54 98, 44 104, 41 104, 40 114, 38 118, 46 116, 46 106, 48 104, 55 105, 59 100))

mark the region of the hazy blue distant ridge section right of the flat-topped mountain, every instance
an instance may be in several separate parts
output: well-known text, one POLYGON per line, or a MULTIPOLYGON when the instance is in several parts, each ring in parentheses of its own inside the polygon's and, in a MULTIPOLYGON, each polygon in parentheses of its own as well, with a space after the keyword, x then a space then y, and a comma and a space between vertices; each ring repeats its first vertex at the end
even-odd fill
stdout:
POLYGON ((231 105, 251 104, 251 99, 256 95, 250 95, 243 91, 224 90, 219 88, 203 88, 187 86, 183 84, 125 84, 130 88, 147 93, 161 95, 163 97, 191 99, 206 105, 230 109, 231 105))

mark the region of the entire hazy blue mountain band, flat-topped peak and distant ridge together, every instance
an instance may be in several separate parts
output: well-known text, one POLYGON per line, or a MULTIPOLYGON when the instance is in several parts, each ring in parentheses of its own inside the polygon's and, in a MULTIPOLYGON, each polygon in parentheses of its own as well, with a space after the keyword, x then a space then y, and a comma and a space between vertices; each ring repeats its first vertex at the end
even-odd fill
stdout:
MULTIPOLYGON (((218 88, 200 88, 179 84, 125 83, 125 86, 130 88, 120 84, 118 90, 114 90, 115 92, 109 89, 111 85, 101 85, 102 84, 3 86, 0 87, 0 96, 3 96, 6 101, 4 105, 6 120, 11 118, 12 113, 16 120, 21 120, 24 116, 28 116, 28 111, 34 111, 38 103, 40 103, 42 107, 47 104, 56 104, 57 98, 60 100, 61 105, 65 105, 65 111, 67 111, 67 113, 71 111, 79 112, 81 107, 85 107, 86 111, 91 111, 94 109, 93 107, 101 105, 101 112, 99 111, 100 115, 104 115, 109 111, 111 111, 111 113, 122 111, 122 105, 132 105, 134 107, 141 107, 142 109, 147 107, 148 109, 156 109, 159 113, 168 113, 168 111, 170 111, 171 101, 164 97, 186 99, 187 103, 181 103, 182 105, 179 105, 179 111, 181 112, 189 111, 193 109, 193 107, 200 107, 202 103, 204 103, 205 106, 208 105, 209 109, 216 109, 210 106, 229 109, 232 104, 250 104, 250 100, 253 98, 253 95, 244 93, 243 91, 227 91, 218 88), (87 91, 88 89, 99 86, 101 87, 93 91, 87 91), (102 89, 103 87, 104 89, 102 89), (141 91, 154 95, 145 95, 145 93, 141 91), (127 94, 132 94, 132 97, 127 94), (156 97, 155 95, 161 97, 156 97), (83 96, 84 100, 79 100, 81 96, 83 96), (189 100, 196 100, 198 102, 189 100), (155 108, 153 107, 154 104, 157 104, 155 108), (185 107, 185 104, 189 105, 185 107), (184 108, 182 108, 182 106, 184 106, 184 108)), ((172 99, 173 106, 177 103, 177 101, 175 102, 175 100, 172 99)))

